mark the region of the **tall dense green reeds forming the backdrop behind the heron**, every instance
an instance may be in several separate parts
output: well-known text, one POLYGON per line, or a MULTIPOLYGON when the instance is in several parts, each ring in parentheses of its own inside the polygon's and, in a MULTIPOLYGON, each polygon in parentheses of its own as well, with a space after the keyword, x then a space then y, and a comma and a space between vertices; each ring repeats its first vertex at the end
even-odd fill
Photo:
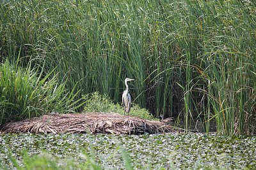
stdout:
POLYGON ((255 8, 240 0, 4 0, 0 59, 15 65, 20 56, 20 66, 64 80, 60 89, 75 101, 98 91, 120 102, 125 77, 134 78, 134 103, 156 116, 182 116, 185 127, 214 118, 221 134, 253 134, 255 8))

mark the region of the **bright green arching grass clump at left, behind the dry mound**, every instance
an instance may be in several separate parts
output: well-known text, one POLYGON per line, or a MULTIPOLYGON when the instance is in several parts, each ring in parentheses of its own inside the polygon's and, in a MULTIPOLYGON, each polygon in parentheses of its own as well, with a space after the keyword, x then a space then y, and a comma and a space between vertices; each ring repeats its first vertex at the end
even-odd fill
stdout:
MULTIPOLYGON (((12 66, 8 60, 0 65, 0 125, 6 122, 24 118, 38 117, 51 111, 70 113, 76 110, 74 94, 65 90, 65 82, 58 83, 57 74, 50 78, 52 71, 43 76, 44 65, 38 70, 31 69, 29 63, 26 69, 12 66)), ((83 102, 84 103, 84 102, 83 102)), ((82 103, 82 104, 83 104, 82 103)))

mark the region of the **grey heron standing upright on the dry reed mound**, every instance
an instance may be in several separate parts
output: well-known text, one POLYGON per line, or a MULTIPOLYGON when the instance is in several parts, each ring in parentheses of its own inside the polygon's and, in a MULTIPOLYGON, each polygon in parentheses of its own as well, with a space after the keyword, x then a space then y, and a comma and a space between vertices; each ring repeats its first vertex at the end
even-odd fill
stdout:
POLYGON ((122 95, 122 103, 124 104, 124 115, 125 115, 125 112, 128 113, 128 118, 129 118, 129 112, 131 110, 132 99, 131 99, 131 94, 129 93, 129 90, 128 90, 127 81, 132 81, 132 80, 134 79, 125 78, 124 83, 126 86, 126 90, 124 90, 122 95))

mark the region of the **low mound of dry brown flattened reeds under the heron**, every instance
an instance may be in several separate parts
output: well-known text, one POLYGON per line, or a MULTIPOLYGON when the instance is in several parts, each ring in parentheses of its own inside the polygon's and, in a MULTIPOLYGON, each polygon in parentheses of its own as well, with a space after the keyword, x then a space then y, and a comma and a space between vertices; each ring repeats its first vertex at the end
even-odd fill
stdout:
POLYGON ((47 114, 21 122, 5 124, 3 132, 158 134, 176 132, 158 121, 124 117, 117 113, 47 114))

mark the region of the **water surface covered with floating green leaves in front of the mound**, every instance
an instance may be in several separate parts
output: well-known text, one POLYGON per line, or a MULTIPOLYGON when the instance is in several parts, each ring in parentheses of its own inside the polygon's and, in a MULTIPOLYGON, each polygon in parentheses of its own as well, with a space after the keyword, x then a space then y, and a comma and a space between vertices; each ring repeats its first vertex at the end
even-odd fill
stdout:
POLYGON ((84 162, 82 152, 102 169, 124 169, 122 148, 134 169, 255 169, 255 136, 165 134, 0 134, 0 167, 12 168, 11 155, 22 166, 22 150, 44 151, 58 159, 84 162))

